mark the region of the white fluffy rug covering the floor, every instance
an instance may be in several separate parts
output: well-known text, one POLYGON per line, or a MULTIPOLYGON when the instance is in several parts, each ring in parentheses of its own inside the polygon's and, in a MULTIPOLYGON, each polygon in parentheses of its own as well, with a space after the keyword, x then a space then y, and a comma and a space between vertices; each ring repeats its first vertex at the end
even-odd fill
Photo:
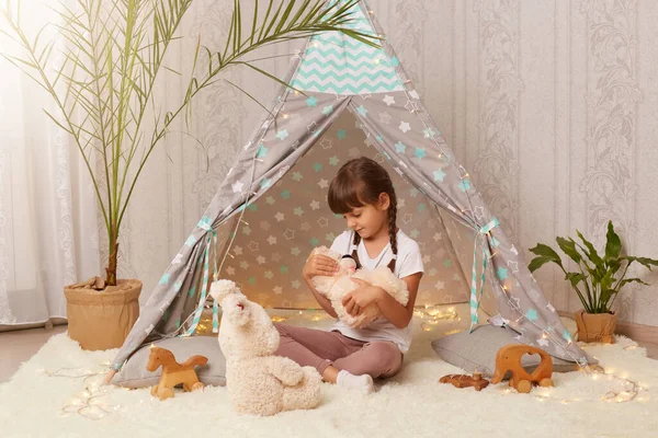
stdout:
POLYGON ((614 377, 554 374, 553 389, 530 394, 503 382, 483 392, 438 383, 460 372, 442 361, 430 341, 463 323, 444 321, 432 331, 418 321, 404 370, 371 395, 322 387, 314 411, 258 418, 236 416, 225 388, 180 393, 160 402, 149 390, 98 388, 115 350, 83 351, 66 334, 50 338, 11 381, 0 385, 0 437, 656 437, 658 367, 625 337, 589 346, 614 377), (59 371, 58 371, 59 370, 59 371), (84 378, 93 399, 84 406, 84 378), (68 374, 70 377, 58 377, 68 374), (622 378, 626 378, 624 380, 622 378), (638 383, 634 395, 633 383, 638 383), (631 391, 631 392, 624 392, 631 391), (614 401, 604 397, 619 396, 614 401), (100 415, 102 417, 98 418, 100 415), (98 419, 92 419, 98 418, 98 419))

